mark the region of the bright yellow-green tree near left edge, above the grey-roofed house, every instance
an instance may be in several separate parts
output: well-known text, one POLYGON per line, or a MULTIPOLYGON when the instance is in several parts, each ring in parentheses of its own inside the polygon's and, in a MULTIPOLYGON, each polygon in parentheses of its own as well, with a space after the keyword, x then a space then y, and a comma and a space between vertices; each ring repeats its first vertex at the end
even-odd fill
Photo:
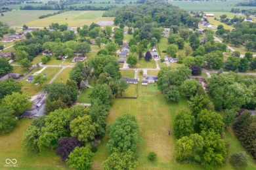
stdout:
POLYGON ((30 96, 26 93, 12 92, 11 95, 5 95, 1 104, 9 109, 14 110, 14 115, 21 114, 32 106, 30 96))

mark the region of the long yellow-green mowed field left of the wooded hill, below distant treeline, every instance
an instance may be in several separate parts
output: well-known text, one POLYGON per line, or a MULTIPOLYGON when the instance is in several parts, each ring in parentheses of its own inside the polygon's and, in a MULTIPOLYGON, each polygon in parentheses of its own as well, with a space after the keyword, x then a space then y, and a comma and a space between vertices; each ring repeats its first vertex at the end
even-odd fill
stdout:
POLYGON ((103 10, 70 10, 62 14, 26 22, 29 27, 47 27, 51 23, 68 24, 69 27, 91 25, 98 21, 113 21, 114 17, 102 17, 103 10))

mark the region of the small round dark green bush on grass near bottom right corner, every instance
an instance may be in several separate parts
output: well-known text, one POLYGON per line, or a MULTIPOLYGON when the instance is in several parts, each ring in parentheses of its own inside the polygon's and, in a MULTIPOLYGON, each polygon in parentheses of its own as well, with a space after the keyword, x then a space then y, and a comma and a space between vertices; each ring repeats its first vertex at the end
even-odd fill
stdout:
POLYGON ((230 157, 230 163, 234 165, 234 167, 247 167, 247 161, 249 156, 242 151, 242 152, 235 152, 230 157))

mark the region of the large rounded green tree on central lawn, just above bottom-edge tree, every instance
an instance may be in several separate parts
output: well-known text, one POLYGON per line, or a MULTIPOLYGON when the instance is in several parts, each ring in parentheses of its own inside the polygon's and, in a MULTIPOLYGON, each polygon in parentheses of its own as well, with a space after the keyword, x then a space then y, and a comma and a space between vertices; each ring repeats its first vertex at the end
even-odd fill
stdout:
POLYGON ((108 151, 112 153, 115 148, 119 148, 121 152, 128 150, 135 152, 139 142, 138 132, 139 126, 135 116, 131 116, 131 114, 119 116, 108 127, 108 151))

